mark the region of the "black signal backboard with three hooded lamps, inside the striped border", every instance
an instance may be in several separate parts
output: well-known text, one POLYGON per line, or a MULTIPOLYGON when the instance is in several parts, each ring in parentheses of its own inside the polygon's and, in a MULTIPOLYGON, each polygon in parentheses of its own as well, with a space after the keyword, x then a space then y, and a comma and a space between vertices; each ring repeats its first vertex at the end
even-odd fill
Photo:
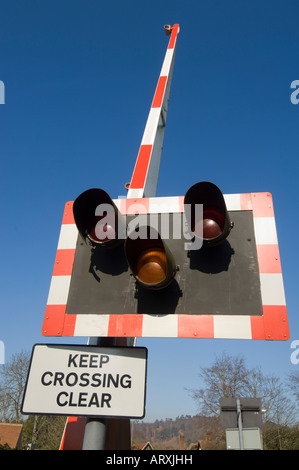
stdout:
POLYGON ((138 208, 121 213, 102 189, 75 200, 81 237, 66 313, 260 315, 252 213, 229 212, 220 189, 206 181, 187 190, 183 210, 160 210, 155 201, 155 209, 136 215, 138 208))

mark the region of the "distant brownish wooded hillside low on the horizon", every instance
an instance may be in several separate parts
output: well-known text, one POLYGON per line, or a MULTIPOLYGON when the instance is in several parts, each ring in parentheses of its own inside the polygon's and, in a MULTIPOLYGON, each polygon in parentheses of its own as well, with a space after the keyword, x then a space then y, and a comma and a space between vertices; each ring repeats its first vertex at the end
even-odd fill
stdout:
POLYGON ((133 444, 150 442, 154 449, 225 449, 225 433, 218 418, 201 415, 178 416, 176 419, 156 420, 154 423, 132 423, 133 444))

